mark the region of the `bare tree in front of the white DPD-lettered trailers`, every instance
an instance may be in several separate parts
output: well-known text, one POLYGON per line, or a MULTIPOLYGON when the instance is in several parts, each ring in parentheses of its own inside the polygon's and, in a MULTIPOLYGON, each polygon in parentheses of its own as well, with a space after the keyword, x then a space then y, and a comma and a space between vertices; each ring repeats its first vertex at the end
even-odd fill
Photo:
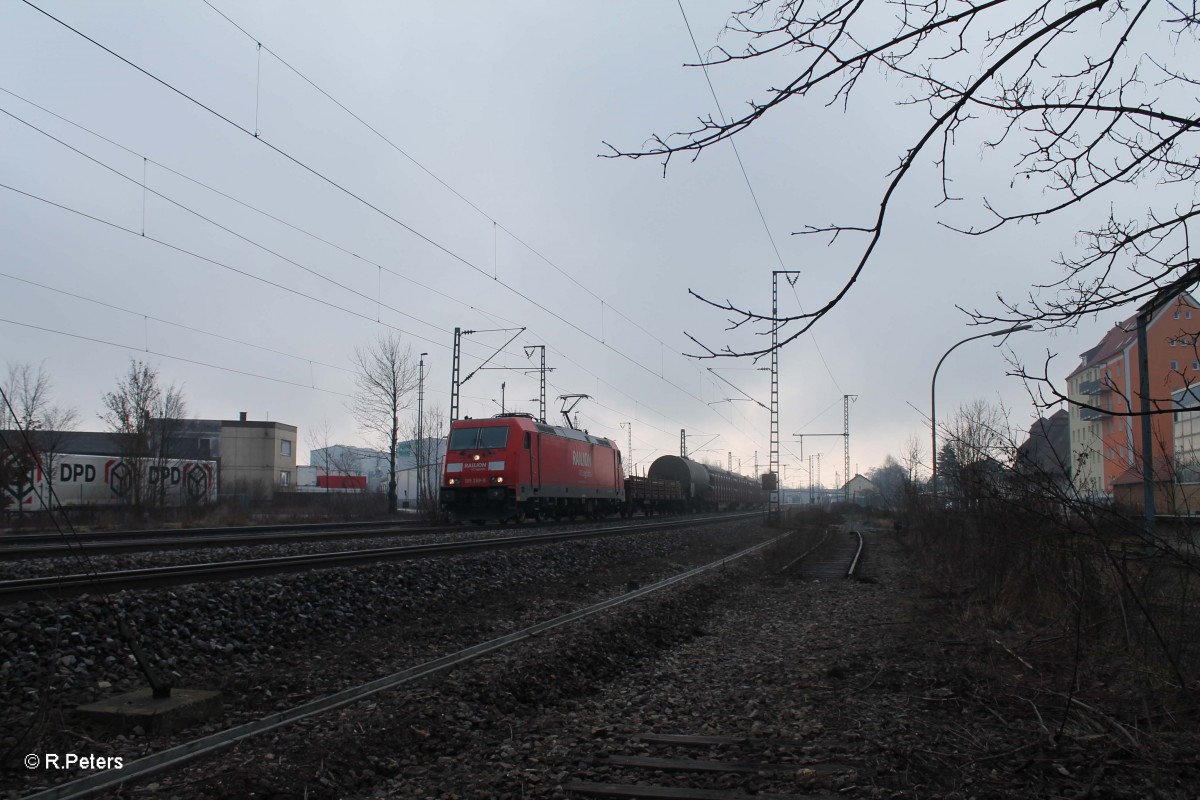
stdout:
POLYGON ((155 367, 130 359, 128 372, 118 381, 115 391, 104 395, 103 403, 107 410, 100 419, 113 432, 118 452, 130 469, 130 501, 136 506, 146 499, 166 504, 163 469, 174 453, 179 421, 187 414, 182 387, 172 384, 163 389, 155 367), (149 498, 148 469, 158 476, 149 498))

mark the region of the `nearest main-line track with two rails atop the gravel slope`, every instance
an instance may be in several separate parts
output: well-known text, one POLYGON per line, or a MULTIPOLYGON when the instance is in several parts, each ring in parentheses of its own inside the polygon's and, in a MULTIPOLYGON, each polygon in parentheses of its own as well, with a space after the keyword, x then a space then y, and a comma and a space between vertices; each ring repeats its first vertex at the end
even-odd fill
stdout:
POLYGON ((400 547, 338 551, 336 553, 311 553, 304 555, 244 559, 238 561, 215 561, 210 564, 187 564, 113 572, 20 578, 16 581, 0 582, 0 606, 30 600, 70 597, 97 590, 116 591, 121 589, 150 589, 188 583, 233 581, 238 578, 265 575, 306 572, 308 570, 359 566, 362 564, 378 564, 380 561, 444 558, 449 555, 478 553, 481 551, 529 547, 533 545, 565 542, 577 539, 620 536, 625 534, 679 528, 683 525, 712 524, 749 516, 757 516, 757 512, 748 515, 726 515, 721 517, 698 517, 689 519, 673 519, 668 522, 640 523, 636 525, 622 525, 617 528, 590 528, 584 530, 529 534, 526 536, 475 539, 461 542, 406 545, 400 547))

